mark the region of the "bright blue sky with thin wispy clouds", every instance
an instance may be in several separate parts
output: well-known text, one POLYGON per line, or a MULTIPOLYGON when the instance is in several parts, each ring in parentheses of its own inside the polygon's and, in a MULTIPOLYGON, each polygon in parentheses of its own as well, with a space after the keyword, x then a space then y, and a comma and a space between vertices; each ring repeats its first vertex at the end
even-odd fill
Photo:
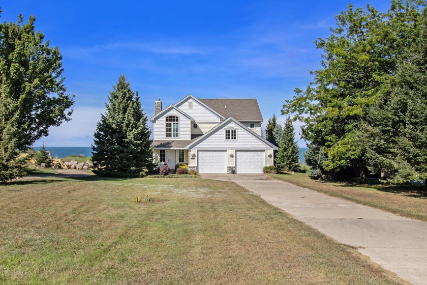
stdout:
MULTIPOLYGON (((365 7, 368 0, 352 1, 365 7)), ((36 29, 63 54, 71 122, 35 146, 90 146, 120 74, 139 91, 148 118, 154 101, 257 98, 264 126, 319 67, 314 41, 329 35, 350 1, 9 1, 3 21, 36 16, 36 29)), ((386 11, 389 1, 369 1, 386 11)), ((299 124, 295 124, 299 139, 299 124)), ((300 146, 305 146, 299 140, 300 146)))

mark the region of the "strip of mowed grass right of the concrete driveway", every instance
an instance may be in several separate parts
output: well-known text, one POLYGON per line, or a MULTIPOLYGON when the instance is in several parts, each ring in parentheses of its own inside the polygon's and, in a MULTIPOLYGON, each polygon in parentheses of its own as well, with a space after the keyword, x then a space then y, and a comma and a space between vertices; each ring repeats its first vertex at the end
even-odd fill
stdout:
POLYGON ((321 193, 344 198, 408 218, 427 221, 427 188, 413 185, 359 184, 349 181, 319 181, 307 174, 269 174, 270 177, 321 193))

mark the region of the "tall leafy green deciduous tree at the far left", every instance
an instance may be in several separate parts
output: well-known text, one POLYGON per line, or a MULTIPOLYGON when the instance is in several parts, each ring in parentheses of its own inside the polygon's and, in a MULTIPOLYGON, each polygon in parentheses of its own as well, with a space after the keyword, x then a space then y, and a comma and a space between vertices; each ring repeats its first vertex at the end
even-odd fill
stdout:
POLYGON ((47 136, 49 127, 71 120, 74 103, 74 96, 66 94, 62 55, 35 30, 35 20, 31 16, 23 23, 19 15, 17 23, 0 23, 0 78, 7 86, 5 96, 17 105, 16 114, 4 119, 16 121, 19 150, 47 136))

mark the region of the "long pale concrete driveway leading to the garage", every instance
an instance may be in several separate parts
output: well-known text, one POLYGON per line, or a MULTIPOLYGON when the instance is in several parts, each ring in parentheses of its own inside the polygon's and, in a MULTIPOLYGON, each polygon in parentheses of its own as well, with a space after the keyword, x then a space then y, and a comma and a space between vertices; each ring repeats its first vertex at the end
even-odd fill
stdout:
POLYGON ((235 182, 414 284, 427 284, 427 223, 327 196, 263 174, 201 174, 235 182))

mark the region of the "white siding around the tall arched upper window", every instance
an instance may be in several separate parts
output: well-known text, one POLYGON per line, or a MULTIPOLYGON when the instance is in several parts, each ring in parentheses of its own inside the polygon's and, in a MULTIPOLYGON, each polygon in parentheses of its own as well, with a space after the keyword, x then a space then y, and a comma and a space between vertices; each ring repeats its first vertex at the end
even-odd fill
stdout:
POLYGON ((170 139, 170 140, 180 140, 186 139, 189 140, 191 138, 190 134, 190 119, 186 116, 182 115, 175 109, 170 109, 166 113, 163 114, 162 117, 158 118, 154 122, 154 139, 170 139), (179 117, 179 137, 166 137, 166 117, 167 116, 178 116, 179 117))

